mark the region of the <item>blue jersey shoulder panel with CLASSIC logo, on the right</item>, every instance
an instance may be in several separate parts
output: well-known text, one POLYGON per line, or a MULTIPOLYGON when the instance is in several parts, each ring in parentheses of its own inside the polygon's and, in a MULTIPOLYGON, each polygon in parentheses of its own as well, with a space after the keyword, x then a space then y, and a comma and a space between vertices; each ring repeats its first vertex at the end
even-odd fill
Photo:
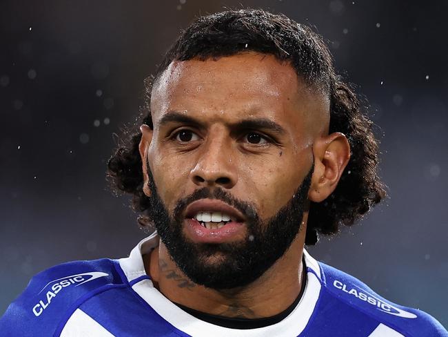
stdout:
POLYGON ((424 311, 386 300, 365 283, 327 264, 318 262, 325 291, 331 298, 349 305, 380 324, 405 336, 448 336, 436 318, 424 311))

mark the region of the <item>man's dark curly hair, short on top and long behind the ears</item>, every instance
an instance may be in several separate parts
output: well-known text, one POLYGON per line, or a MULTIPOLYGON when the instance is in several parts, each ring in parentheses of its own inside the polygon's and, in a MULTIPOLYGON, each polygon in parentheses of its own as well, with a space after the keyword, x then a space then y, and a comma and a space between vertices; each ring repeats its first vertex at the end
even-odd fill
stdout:
MULTIPOLYGON (((352 225, 385 197, 377 174, 378 141, 372 122, 360 109, 354 92, 336 74, 323 40, 310 28, 285 15, 264 10, 228 10, 194 21, 167 51, 154 81, 172 61, 209 59, 245 51, 274 55, 287 62, 305 83, 329 97, 329 133, 347 136, 352 155, 335 191, 309 209, 305 244, 315 244, 318 233, 337 233, 341 224, 352 225)), ((145 80, 145 104, 140 121, 151 128, 152 79, 145 80)), ((143 193, 139 125, 124 131, 125 138, 108 161, 108 180, 116 192, 131 193, 132 208, 140 212, 139 224, 148 226, 149 200, 143 193)))

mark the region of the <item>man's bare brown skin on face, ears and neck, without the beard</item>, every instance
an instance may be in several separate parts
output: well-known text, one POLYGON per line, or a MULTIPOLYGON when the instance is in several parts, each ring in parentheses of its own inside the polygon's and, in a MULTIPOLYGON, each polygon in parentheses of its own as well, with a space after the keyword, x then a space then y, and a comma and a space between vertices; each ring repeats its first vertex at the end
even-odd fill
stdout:
MULTIPOLYGON (((251 202, 267 220, 292 198, 313 160, 308 193, 313 202, 334 191, 349 160, 345 135, 328 134, 327 97, 272 55, 244 52, 215 60, 174 61, 154 84, 151 110, 154 130, 141 126, 143 190, 150 195, 145 165, 149 162, 171 212, 177 200, 209 186, 251 202), (171 111, 196 119, 201 128, 183 122, 161 125, 171 111), (234 133, 232 126, 242 119, 267 119, 283 133, 269 128, 234 133), (176 132, 185 128, 194 136, 181 142, 176 132), (254 132, 265 137, 259 144, 247 137, 254 132)), ((217 291, 195 285, 176 267, 162 242, 143 256, 145 269, 161 293, 181 305, 227 317, 273 316, 300 292, 307 217, 305 212, 301 231, 285 255, 246 287, 217 291)))

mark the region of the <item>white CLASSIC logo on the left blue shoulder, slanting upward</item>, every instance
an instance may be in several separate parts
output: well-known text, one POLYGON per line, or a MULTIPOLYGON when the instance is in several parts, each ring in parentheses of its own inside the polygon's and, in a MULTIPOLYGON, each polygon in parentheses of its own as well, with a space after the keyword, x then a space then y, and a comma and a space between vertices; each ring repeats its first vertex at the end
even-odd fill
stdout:
POLYGON ((90 273, 65 276, 64 278, 58 278, 57 280, 48 282, 45 287, 39 291, 38 295, 42 293, 42 299, 39 300, 34 307, 32 307, 32 313, 36 317, 41 316, 43 311, 47 309, 52 302, 52 299, 55 298, 61 290, 66 289, 67 287, 78 287, 79 285, 83 285, 85 282, 90 282, 96 278, 102 278, 108 275, 108 273, 103 273, 101 271, 91 271, 90 273))

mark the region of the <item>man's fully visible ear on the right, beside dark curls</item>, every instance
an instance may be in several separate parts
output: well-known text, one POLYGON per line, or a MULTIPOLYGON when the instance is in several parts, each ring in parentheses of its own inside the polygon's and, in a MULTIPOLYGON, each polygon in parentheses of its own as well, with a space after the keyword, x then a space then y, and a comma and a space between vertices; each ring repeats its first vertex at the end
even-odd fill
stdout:
POLYGON ((308 198, 321 202, 333 193, 350 159, 350 145, 343 133, 318 139, 313 146, 314 173, 308 198))

